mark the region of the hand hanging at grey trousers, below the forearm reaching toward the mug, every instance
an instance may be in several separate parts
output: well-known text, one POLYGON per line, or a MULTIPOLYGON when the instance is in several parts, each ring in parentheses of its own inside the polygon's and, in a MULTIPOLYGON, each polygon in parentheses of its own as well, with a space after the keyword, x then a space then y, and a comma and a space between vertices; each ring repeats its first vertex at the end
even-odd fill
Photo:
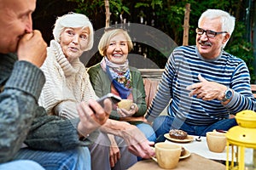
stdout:
POLYGON ((110 166, 114 167, 116 162, 120 159, 120 150, 118 144, 116 144, 113 134, 108 134, 108 138, 110 140, 110 147, 109 147, 109 162, 110 166))

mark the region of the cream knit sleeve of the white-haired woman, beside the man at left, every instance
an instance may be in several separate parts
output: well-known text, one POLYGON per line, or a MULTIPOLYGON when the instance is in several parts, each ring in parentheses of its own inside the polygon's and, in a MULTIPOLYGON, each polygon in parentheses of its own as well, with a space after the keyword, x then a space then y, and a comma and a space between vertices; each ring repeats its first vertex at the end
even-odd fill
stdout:
POLYGON ((39 98, 39 105, 43 106, 49 115, 64 118, 78 117, 77 101, 67 88, 64 72, 56 62, 55 56, 49 53, 41 70, 44 71, 46 82, 39 98))

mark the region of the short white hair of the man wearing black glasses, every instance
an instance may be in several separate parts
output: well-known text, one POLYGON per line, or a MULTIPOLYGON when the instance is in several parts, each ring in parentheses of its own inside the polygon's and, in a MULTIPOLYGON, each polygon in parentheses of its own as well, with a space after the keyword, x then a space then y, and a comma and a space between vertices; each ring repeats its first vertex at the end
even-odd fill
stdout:
MULTIPOLYGON (((220 21, 222 23, 222 26, 221 26, 222 31, 227 31, 231 37, 231 34, 235 29, 235 23, 236 23, 236 18, 234 16, 220 9, 207 9, 203 14, 201 14, 201 17, 198 20, 198 26, 200 25, 201 20, 203 20, 204 18, 207 18, 207 19, 220 18, 220 21)), ((224 46, 226 45, 227 42, 228 41, 224 43, 224 46)))

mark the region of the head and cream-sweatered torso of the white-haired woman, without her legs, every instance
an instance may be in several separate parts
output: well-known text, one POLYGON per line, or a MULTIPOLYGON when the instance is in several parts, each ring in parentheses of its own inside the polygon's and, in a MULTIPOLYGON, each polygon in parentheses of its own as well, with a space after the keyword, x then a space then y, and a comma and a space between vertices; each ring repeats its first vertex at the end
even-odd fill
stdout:
POLYGON ((93 27, 84 14, 69 13, 55 21, 54 40, 47 48, 41 69, 46 83, 39 99, 49 115, 78 116, 76 104, 96 99, 89 76, 79 57, 92 48, 93 27))

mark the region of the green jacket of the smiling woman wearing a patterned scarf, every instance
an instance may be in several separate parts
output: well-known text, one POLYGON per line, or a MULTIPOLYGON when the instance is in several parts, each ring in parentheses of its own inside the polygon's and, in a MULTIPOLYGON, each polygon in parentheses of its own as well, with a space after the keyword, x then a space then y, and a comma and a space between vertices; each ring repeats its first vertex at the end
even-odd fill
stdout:
MULTIPOLYGON (((131 87, 132 96, 134 103, 138 106, 138 111, 133 116, 144 116, 147 111, 147 105, 145 101, 145 88, 143 84, 143 77, 141 72, 135 67, 129 67, 131 71, 131 87)), ((90 75, 90 82, 92 87, 95 89, 95 93, 98 97, 102 97, 111 91, 111 82, 105 71, 102 70, 100 63, 91 66, 88 69, 90 75)), ((110 118, 119 120, 117 111, 112 111, 110 118)))

